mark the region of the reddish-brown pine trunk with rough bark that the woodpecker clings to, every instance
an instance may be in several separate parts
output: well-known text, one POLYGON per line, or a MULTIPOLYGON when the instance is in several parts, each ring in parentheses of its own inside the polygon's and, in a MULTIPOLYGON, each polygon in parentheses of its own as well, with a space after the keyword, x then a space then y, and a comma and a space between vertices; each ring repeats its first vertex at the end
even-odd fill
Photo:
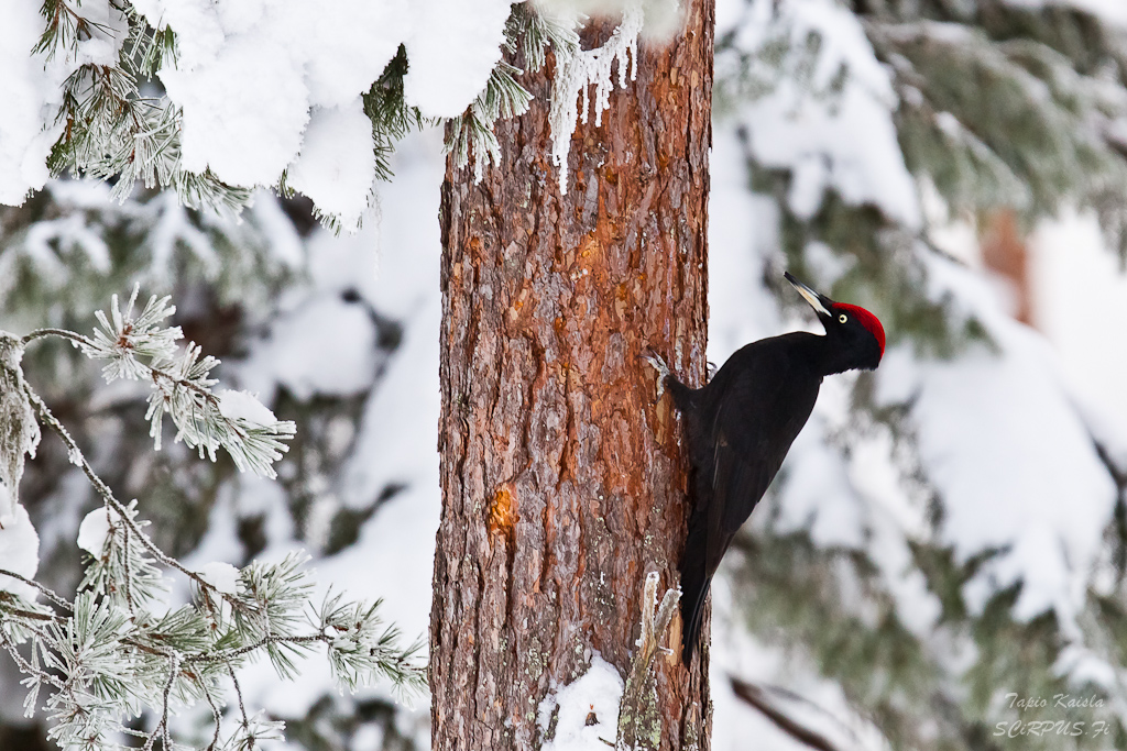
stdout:
POLYGON ((498 167, 473 185, 447 164, 436 751, 540 748, 541 700, 596 652, 630 678, 629 742, 708 748, 708 653, 681 663, 680 616, 663 637, 675 653, 631 676, 646 574, 676 585, 689 510, 681 424, 641 355, 689 383, 706 368, 713 11, 687 5, 681 34, 642 41, 602 125, 576 131, 566 195, 551 63, 521 79, 530 111, 498 123, 498 167))

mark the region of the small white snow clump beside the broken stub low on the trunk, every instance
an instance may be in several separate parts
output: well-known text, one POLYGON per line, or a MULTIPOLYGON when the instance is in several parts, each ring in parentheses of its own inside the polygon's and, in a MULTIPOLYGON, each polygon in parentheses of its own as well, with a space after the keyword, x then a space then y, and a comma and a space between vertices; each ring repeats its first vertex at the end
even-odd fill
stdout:
POLYGON ((541 750, 588 751, 613 745, 622 689, 619 671, 596 652, 583 676, 549 691, 540 703, 536 724, 541 733, 547 734, 552 715, 557 716, 556 733, 541 750))

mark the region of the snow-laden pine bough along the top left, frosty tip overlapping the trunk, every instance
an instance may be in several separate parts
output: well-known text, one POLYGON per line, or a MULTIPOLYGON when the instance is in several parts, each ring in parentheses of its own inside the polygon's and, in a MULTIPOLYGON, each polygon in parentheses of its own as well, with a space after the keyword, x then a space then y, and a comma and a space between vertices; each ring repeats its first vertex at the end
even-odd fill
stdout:
MULTIPOLYGON (((527 109, 523 54, 557 77, 552 157, 567 189, 567 151, 595 86, 595 117, 637 64, 642 23, 664 26, 675 0, 15 0, 3 54, 14 97, 0 111, 0 202, 19 205, 48 176, 116 178, 124 200, 140 181, 187 206, 241 211, 257 186, 314 203, 354 231, 390 175, 396 142, 449 123, 446 149, 480 180, 499 158, 494 124, 527 109), (596 8, 597 6, 597 8, 596 8), (580 50, 585 11, 618 14, 611 39, 580 50), (163 91, 148 96, 147 80, 163 91)), ((632 77, 632 75, 631 75, 632 77)))

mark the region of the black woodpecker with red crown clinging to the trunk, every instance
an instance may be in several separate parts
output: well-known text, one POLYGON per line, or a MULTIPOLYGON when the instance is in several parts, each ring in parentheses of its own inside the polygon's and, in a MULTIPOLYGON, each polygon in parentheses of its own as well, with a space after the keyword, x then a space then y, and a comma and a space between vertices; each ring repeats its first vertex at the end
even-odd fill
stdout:
POLYGON ((857 305, 835 303, 786 274, 826 336, 795 331, 754 341, 701 388, 690 388, 654 352, 658 396, 668 388, 681 411, 692 467, 693 510, 681 556, 684 661, 693 654, 712 574, 740 525, 763 498, 818 397, 822 378, 872 370, 885 354, 885 329, 857 305))

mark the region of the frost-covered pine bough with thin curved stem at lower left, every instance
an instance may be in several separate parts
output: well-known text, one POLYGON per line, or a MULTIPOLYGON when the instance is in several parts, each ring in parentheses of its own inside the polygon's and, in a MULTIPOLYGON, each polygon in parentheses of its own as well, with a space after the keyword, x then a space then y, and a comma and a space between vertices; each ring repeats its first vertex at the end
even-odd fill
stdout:
POLYGON ((185 749, 172 737, 169 717, 204 704, 212 716, 206 748, 250 749, 283 737, 282 723, 248 714, 240 688, 239 669, 261 653, 279 677, 291 679, 294 659, 323 645, 341 689, 355 690, 378 677, 401 690, 420 688, 414 661, 420 645, 399 646, 397 629, 379 617, 379 602, 349 602, 330 592, 313 606, 304 554, 242 570, 207 563, 197 571, 165 554, 145 533, 137 502, 125 504, 114 495, 24 379, 19 361, 26 346, 66 338, 92 359, 107 360, 107 379, 151 379, 154 436, 167 412, 178 437, 201 456, 206 452, 214 459, 223 447, 240 468, 273 475, 270 465, 285 449, 281 441, 293 436, 292 423, 276 420, 249 394, 213 394, 207 372, 218 361, 199 360, 190 345, 178 355, 179 330, 161 325, 172 312, 168 298, 152 297, 134 314, 136 295, 134 289, 124 311, 115 297, 108 315, 99 312, 94 338, 56 329, 23 339, 0 332, 0 458, 8 468, 0 477, 0 500, 9 508, 0 518, 0 645, 24 674, 25 714, 33 716, 42 706, 48 737, 61 748, 123 748, 125 737, 134 736, 147 750, 158 741, 162 749, 185 749), (181 391, 189 394, 177 396, 181 391), (90 555, 72 601, 33 579, 37 538, 14 493, 23 456, 38 440, 38 421, 59 435, 70 461, 103 499, 103 508, 79 528, 78 545, 90 555), (169 570, 188 580, 189 604, 169 600, 169 570), (144 731, 136 730, 142 716, 150 717, 144 731))

